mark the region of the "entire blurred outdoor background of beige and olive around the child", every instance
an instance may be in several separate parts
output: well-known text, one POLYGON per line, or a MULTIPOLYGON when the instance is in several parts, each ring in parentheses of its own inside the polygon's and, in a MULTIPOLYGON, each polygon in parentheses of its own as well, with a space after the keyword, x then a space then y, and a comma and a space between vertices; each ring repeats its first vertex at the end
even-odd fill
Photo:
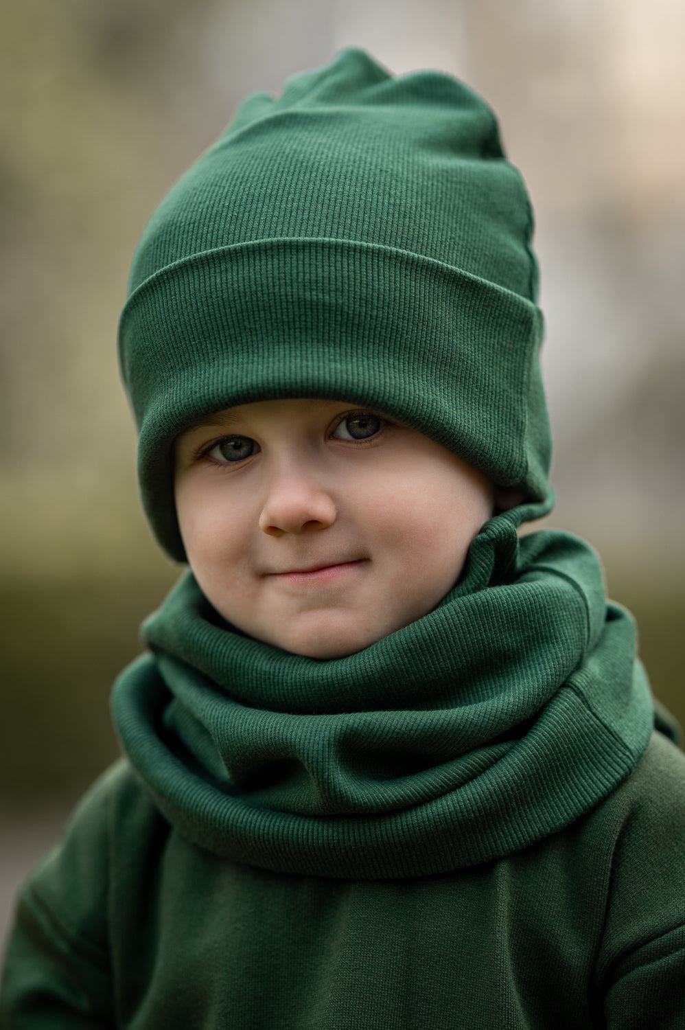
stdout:
POLYGON ((115 330, 146 218, 249 92, 363 45, 493 105, 537 212, 558 506, 685 722, 681 0, 23 0, 0 10, 0 924, 116 753, 178 575, 138 509, 115 330))

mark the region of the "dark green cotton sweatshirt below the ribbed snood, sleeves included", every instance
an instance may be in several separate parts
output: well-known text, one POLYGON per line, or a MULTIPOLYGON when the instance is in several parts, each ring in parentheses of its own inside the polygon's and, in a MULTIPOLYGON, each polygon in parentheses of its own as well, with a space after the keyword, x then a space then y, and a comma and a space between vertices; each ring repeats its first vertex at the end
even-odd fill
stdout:
POLYGON ((126 764, 24 891, 3 1030, 682 1030, 685 758, 572 826, 402 880, 228 861, 126 764))

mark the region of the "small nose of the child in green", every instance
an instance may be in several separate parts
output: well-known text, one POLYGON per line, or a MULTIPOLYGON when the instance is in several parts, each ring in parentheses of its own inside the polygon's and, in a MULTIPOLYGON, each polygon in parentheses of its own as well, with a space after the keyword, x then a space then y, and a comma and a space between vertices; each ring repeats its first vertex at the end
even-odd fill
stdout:
POLYGON ((309 529, 326 529, 338 516, 333 497, 315 479, 289 469, 274 475, 260 515, 260 528, 269 537, 309 529))

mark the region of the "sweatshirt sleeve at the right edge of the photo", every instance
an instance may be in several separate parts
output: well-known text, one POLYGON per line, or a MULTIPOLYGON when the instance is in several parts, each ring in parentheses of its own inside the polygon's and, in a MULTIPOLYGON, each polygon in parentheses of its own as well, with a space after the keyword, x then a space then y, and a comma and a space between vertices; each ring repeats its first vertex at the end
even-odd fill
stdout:
POLYGON ((598 962, 604 1015, 611 1030, 682 1030, 685 756, 656 734, 646 758, 612 870, 598 962))

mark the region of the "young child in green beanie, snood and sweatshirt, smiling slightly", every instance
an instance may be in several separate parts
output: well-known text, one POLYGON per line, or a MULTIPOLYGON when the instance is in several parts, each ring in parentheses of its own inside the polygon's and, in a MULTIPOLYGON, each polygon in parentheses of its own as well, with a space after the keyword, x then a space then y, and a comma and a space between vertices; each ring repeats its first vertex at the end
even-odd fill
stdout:
POLYGON ((517 537, 552 505, 530 232, 485 104, 358 50, 153 215, 122 364, 191 572, 3 1027, 685 1026, 685 758, 590 549, 517 537))

